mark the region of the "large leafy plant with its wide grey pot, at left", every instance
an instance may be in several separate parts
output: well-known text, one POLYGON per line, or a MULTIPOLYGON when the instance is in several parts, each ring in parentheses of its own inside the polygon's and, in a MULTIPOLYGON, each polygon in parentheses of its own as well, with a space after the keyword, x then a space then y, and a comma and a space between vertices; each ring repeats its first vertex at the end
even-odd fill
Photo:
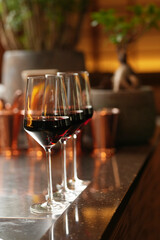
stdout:
POLYGON ((88 4, 88 0, 0 1, 2 83, 10 89, 9 101, 23 87, 22 70, 84 69, 83 54, 75 47, 88 4))

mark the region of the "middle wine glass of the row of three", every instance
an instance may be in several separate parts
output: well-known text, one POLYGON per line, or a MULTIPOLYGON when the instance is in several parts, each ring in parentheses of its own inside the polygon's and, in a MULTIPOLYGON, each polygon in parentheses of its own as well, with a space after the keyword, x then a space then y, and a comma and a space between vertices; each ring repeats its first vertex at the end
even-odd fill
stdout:
POLYGON ((68 100, 69 116, 71 120, 71 126, 66 134, 61 138, 61 146, 63 153, 63 172, 62 172, 62 183, 58 186, 58 191, 55 193, 55 197, 58 200, 66 200, 72 202, 77 194, 70 190, 67 185, 67 169, 66 169, 66 143, 72 134, 81 126, 84 122, 84 113, 82 110, 82 95, 79 77, 77 73, 57 73, 58 76, 64 78, 66 86, 66 94, 68 100))

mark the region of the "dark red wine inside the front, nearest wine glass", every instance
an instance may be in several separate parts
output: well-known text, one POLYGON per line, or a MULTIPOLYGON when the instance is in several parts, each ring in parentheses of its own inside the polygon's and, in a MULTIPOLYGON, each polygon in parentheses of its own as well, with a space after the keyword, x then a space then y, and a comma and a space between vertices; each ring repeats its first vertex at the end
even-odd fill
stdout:
POLYGON ((42 147, 55 145, 65 135, 70 125, 70 118, 67 116, 24 119, 24 129, 42 147))

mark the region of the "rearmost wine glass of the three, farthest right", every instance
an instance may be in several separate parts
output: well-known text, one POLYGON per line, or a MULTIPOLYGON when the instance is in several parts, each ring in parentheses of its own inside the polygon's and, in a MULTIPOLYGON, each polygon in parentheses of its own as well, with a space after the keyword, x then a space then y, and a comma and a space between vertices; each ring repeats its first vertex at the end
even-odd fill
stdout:
POLYGON ((90 87, 90 81, 89 81, 89 73, 87 71, 80 71, 78 72, 79 80, 80 80, 80 86, 82 91, 82 110, 84 114, 84 121, 83 124, 81 124, 80 128, 78 128, 73 136, 73 178, 69 180, 69 186, 71 189, 74 189, 77 192, 81 192, 84 190, 87 185, 89 184, 89 181, 87 180, 81 180, 77 176, 77 148, 76 148, 76 142, 77 142, 77 135, 81 131, 84 125, 86 125, 93 115, 93 107, 92 107, 92 100, 91 100, 91 87, 90 87))

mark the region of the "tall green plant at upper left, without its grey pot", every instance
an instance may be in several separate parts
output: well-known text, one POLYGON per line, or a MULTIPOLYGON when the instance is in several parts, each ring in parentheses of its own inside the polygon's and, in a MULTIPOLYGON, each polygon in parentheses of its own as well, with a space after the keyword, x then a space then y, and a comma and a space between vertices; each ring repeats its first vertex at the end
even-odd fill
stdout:
POLYGON ((74 48, 89 0, 0 0, 5 49, 74 48))

